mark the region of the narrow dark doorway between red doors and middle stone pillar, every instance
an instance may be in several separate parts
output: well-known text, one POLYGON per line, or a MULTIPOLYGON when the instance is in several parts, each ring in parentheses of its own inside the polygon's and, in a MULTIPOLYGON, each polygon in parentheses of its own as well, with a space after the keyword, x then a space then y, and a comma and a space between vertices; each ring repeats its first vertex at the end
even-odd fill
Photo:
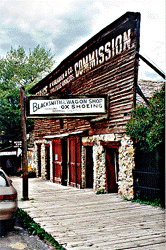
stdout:
POLYGON ((85 147, 85 187, 93 188, 93 147, 85 147))

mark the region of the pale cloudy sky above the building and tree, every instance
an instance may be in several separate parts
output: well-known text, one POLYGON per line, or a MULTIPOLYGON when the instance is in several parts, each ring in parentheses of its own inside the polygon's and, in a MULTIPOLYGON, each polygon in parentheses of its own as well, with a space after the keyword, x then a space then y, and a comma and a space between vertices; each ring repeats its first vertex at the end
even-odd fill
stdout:
MULTIPOLYGON (((40 44, 55 55, 55 68, 127 11, 141 13, 141 55, 165 71, 165 0, 1 0, 0 57, 40 44)), ((142 61, 139 79, 163 80, 142 61)))

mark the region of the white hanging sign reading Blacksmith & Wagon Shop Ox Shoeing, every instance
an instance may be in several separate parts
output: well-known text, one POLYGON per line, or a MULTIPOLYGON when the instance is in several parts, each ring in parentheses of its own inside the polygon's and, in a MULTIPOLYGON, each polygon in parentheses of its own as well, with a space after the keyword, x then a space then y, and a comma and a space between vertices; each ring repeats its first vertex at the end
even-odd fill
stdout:
POLYGON ((70 98, 35 96, 28 97, 27 116, 39 116, 39 118, 42 115, 53 115, 54 117, 58 115, 73 116, 75 114, 95 116, 106 114, 106 105, 106 96, 72 96, 70 98))

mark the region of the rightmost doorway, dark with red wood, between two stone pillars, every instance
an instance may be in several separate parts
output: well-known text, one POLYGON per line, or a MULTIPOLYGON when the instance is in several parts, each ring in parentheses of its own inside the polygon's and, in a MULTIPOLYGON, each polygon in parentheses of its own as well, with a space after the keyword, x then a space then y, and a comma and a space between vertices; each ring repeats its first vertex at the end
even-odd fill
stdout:
POLYGON ((118 192, 118 150, 115 148, 105 149, 106 157, 106 190, 107 193, 118 192))

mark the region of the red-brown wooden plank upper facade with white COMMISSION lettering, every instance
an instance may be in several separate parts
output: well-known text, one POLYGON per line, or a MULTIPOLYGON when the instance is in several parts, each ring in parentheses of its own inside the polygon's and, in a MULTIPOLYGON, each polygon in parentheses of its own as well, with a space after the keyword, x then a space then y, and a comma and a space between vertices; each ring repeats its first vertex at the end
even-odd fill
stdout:
POLYGON ((56 121, 50 120, 50 124, 47 126, 44 124, 49 122, 42 120, 43 124, 41 124, 41 130, 38 132, 40 135, 44 134, 43 130, 47 135, 58 131, 64 133, 80 129, 87 129, 90 134, 125 132, 125 125, 130 119, 136 96, 135 85, 137 84, 138 70, 136 53, 139 51, 139 25, 140 14, 127 12, 74 51, 53 72, 30 90, 30 93, 36 95, 46 93, 50 96, 63 93, 72 95, 107 94, 109 97, 108 118, 98 122, 91 122, 86 117, 67 119, 65 130, 61 130, 56 121), (130 31, 130 34, 127 33, 128 31, 130 31), (130 46, 125 43, 125 35, 130 36, 126 38, 130 39, 130 46), (118 40, 119 36, 121 38, 118 40), (118 48, 113 49, 115 39, 117 39, 118 45, 116 45, 118 48), (108 51, 105 46, 108 42, 111 44, 109 48, 110 57, 109 60, 106 60, 108 51), (103 54, 100 57, 95 57, 95 66, 92 66, 91 61, 89 61, 89 64, 84 65, 83 70, 85 72, 82 68, 76 72, 79 63, 83 64, 83 60, 87 60, 93 53, 99 54, 100 48, 103 49, 103 54), (103 63, 99 63, 102 57, 105 59, 103 59, 103 63), (91 67, 89 65, 92 68, 86 69, 86 67, 91 67), (68 76, 71 77, 69 82, 67 81, 68 76))

